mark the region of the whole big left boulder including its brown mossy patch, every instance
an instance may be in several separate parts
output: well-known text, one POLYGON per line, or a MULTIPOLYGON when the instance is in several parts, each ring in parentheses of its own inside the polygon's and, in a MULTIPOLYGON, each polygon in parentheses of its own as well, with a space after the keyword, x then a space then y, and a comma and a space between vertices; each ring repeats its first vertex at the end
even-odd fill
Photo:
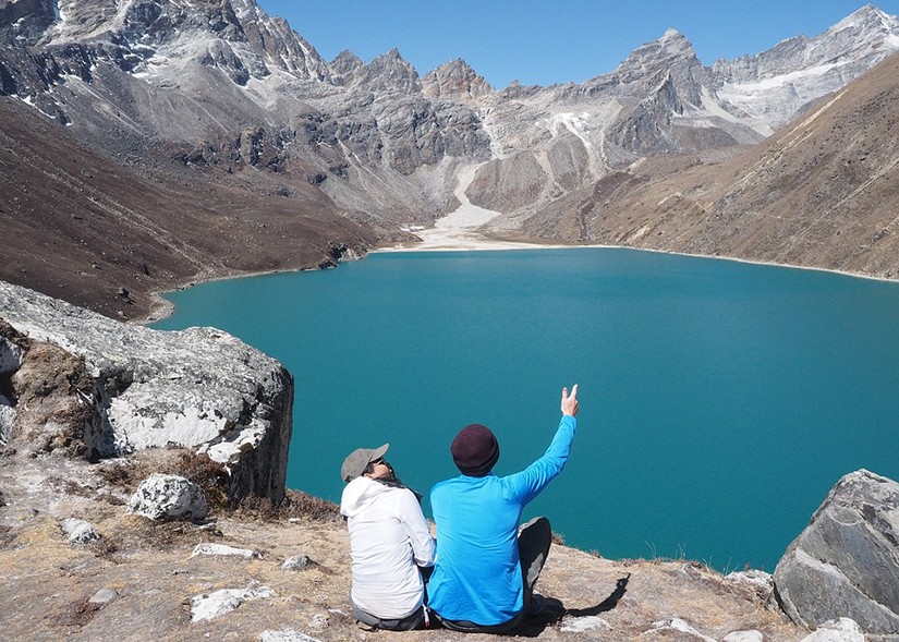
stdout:
POLYGON ((92 460, 180 446, 229 470, 232 500, 283 498, 293 378, 276 360, 215 328, 125 325, 2 282, 0 317, 7 441, 38 432, 45 453, 92 460))

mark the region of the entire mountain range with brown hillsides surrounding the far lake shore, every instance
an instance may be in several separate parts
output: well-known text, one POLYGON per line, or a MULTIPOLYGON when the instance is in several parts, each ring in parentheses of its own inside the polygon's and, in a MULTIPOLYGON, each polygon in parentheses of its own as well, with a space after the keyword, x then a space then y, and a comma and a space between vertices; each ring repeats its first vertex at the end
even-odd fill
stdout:
POLYGON ((896 277, 897 49, 866 5, 712 66, 669 29, 495 89, 463 60, 326 62, 253 0, 0 0, 0 278, 141 315, 410 239, 462 179, 496 235, 896 277))

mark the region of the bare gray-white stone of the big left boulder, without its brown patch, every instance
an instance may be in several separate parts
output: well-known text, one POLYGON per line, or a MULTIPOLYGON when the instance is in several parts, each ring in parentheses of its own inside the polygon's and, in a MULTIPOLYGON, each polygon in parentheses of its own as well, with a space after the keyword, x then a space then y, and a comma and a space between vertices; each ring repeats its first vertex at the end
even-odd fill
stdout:
MULTIPOLYGON (((224 464, 232 499, 283 498, 293 378, 275 359, 215 328, 154 330, 5 282, 0 318, 83 360, 93 387, 71 393, 89 410, 78 432, 88 453, 185 447, 224 464)), ((3 354, 5 370, 27 366, 27 352, 3 354)))

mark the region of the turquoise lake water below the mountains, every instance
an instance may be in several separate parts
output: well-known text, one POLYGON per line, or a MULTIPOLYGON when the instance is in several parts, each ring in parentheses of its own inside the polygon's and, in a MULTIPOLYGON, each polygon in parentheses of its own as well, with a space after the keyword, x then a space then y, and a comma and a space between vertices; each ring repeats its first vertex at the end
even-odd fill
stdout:
POLYGON ((290 368, 288 486, 332 500, 343 458, 386 441, 427 495, 473 422, 514 472, 574 383, 571 458, 529 512, 606 557, 773 571, 841 475, 899 479, 896 283, 570 249, 376 254, 169 298, 155 327, 216 326, 290 368))

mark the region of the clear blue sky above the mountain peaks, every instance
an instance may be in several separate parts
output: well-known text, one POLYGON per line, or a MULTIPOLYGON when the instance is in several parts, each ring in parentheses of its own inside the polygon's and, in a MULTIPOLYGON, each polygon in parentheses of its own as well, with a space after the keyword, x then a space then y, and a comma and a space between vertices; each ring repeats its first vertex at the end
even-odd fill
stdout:
MULTIPOLYGON (((258 0, 325 60, 349 49, 365 62, 399 49, 421 75, 464 59, 496 88, 550 85, 612 71, 668 27, 703 64, 815 36, 863 0, 258 0)), ((873 2, 889 14, 899 0, 873 2)))

